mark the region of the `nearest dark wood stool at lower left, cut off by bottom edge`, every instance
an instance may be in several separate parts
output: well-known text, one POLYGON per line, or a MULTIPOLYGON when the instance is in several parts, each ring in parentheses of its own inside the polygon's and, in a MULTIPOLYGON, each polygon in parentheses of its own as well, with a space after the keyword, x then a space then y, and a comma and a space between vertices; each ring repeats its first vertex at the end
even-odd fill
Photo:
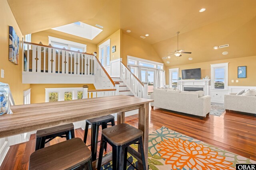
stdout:
POLYGON ((82 139, 73 138, 36 150, 30 155, 29 170, 92 170, 91 151, 82 139))

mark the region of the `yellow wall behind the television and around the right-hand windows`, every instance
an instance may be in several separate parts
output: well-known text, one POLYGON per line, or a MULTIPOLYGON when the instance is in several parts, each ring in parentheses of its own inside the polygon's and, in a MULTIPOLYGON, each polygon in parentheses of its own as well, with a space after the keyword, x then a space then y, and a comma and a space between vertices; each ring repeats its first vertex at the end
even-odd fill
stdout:
POLYGON ((218 63, 228 63, 228 86, 256 86, 256 56, 166 67, 166 84, 169 84, 169 68, 179 68, 180 77, 182 77, 181 70, 201 68, 201 77, 204 78, 211 76, 210 64, 218 63), (238 66, 247 66, 246 78, 237 78, 238 66), (234 80, 234 83, 231 80, 234 80), (236 80, 239 82, 236 83, 236 80))

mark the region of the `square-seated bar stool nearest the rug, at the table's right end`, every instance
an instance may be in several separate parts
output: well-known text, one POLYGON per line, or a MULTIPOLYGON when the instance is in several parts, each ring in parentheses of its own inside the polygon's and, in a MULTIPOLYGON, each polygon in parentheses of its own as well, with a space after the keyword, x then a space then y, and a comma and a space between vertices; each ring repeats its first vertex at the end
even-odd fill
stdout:
MULTIPOLYGON (((126 170, 127 167, 127 150, 128 146, 132 144, 140 144, 140 155, 143 165, 143 170, 146 170, 146 161, 143 149, 143 132, 140 129, 132 127, 126 123, 109 127, 102 130, 102 138, 100 142, 100 154, 98 158, 98 170, 102 163, 103 148, 109 143, 112 146, 112 169, 126 170)), ((131 165, 132 163, 129 162, 131 165)), ((134 167, 135 168, 135 167, 134 167)))

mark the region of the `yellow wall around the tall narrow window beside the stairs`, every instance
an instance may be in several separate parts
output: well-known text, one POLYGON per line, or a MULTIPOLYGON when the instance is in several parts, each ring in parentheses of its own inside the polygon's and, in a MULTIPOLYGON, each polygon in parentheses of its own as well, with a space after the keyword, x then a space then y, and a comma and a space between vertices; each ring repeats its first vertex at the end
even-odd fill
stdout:
MULTIPOLYGON (((118 29, 116 32, 114 32, 112 35, 98 43, 97 45, 97 53, 99 54, 99 45, 110 39, 110 61, 119 59, 120 58, 120 52, 121 52, 121 37, 122 37, 122 29, 118 29), (116 52, 112 53, 112 47, 116 45, 116 52)), ((98 57, 99 55, 97 55, 98 57)))

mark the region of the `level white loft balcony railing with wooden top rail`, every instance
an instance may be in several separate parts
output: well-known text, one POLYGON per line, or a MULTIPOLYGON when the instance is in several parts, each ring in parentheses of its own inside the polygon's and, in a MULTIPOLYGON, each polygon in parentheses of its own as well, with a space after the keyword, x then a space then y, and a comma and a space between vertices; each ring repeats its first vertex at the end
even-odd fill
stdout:
POLYGON ((94 75, 92 54, 30 42, 24 49, 24 72, 94 75))

